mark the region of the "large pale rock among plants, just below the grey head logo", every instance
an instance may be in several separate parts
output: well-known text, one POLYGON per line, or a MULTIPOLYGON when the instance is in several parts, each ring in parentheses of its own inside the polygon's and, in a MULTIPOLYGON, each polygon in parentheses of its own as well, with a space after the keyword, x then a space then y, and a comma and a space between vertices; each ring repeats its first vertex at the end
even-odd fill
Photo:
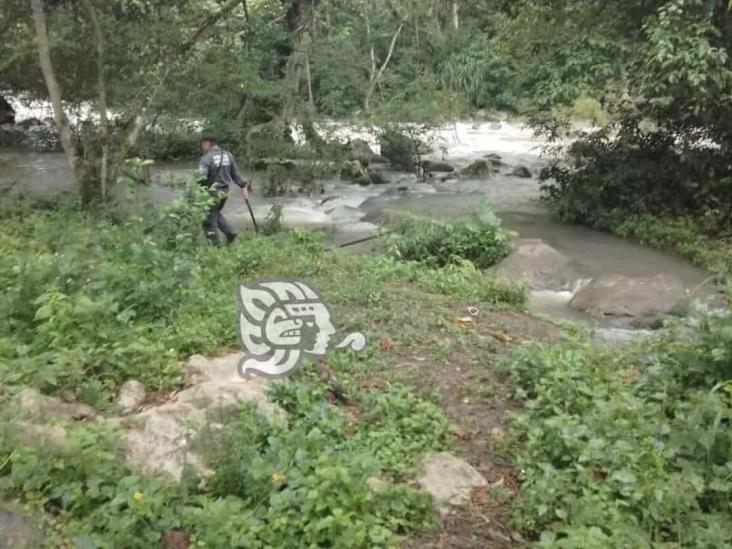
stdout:
POLYGON ((239 375, 241 357, 242 353, 214 359, 192 356, 184 367, 190 387, 169 402, 123 420, 128 429, 122 437, 127 458, 148 474, 180 479, 183 468, 192 465, 207 476, 210 471, 190 443, 212 417, 220 421, 224 411, 251 402, 265 417, 283 419, 284 411, 266 397, 271 382, 239 375))

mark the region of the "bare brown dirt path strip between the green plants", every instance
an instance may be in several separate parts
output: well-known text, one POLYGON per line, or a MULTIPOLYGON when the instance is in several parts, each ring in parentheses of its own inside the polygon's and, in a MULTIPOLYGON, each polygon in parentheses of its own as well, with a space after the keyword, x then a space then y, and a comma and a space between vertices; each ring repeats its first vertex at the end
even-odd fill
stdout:
MULTIPOLYGON (((464 310, 455 318, 465 319, 464 310)), ((526 340, 551 340, 560 331, 550 323, 517 311, 486 311, 465 325, 474 330, 478 343, 459 346, 448 365, 414 360, 416 366, 407 378, 422 390, 436 390, 445 414, 457 426, 455 453, 469 462, 488 480, 502 486, 508 495, 518 489, 511 463, 501 455, 503 421, 506 412, 518 405, 512 402, 505 378, 496 364, 512 347, 526 340)), ((400 360, 409 360, 402 356, 400 360)), ((411 357, 415 358, 415 357, 411 357)), ((408 549, 507 549, 523 547, 520 534, 509 526, 505 505, 490 489, 477 489, 471 503, 443 517, 432 534, 412 536, 408 549)))

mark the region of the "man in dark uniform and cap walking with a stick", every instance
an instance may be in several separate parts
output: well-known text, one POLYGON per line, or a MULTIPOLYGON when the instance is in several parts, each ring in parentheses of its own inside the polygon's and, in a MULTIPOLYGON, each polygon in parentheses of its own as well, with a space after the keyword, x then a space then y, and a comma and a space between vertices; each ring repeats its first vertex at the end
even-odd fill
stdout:
POLYGON ((213 204, 203 221, 203 230, 212 244, 216 246, 220 244, 217 229, 224 233, 226 242, 231 244, 236 238, 236 233, 221 210, 228 198, 229 185, 232 182, 236 183, 241 189, 242 197, 246 199, 249 196, 247 183, 239 174, 234 157, 230 152, 221 150, 215 135, 203 134, 200 145, 203 151, 203 156, 198 161, 198 170, 202 177, 200 183, 208 189, 213 198, 213 204))

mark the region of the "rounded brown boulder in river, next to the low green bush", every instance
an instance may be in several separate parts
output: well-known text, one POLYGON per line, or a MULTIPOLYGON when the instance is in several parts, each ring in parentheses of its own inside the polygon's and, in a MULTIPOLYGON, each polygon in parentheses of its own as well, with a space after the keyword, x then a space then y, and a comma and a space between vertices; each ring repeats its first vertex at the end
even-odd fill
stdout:
POLYGON ((580 264, 540 239, 516 241, 513 251, 492 271, 532 290, 570 290, 583 278, 580 264))

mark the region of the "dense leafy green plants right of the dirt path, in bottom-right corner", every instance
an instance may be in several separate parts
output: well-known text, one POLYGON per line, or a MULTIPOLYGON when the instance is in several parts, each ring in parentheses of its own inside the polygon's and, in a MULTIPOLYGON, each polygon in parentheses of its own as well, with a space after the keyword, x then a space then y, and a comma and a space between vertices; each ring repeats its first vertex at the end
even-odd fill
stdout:
POLYGON ((530 344, 505 362, 526 400, 515 521, 537 547, 732 543, 731 322, 611 350, 530 344))

